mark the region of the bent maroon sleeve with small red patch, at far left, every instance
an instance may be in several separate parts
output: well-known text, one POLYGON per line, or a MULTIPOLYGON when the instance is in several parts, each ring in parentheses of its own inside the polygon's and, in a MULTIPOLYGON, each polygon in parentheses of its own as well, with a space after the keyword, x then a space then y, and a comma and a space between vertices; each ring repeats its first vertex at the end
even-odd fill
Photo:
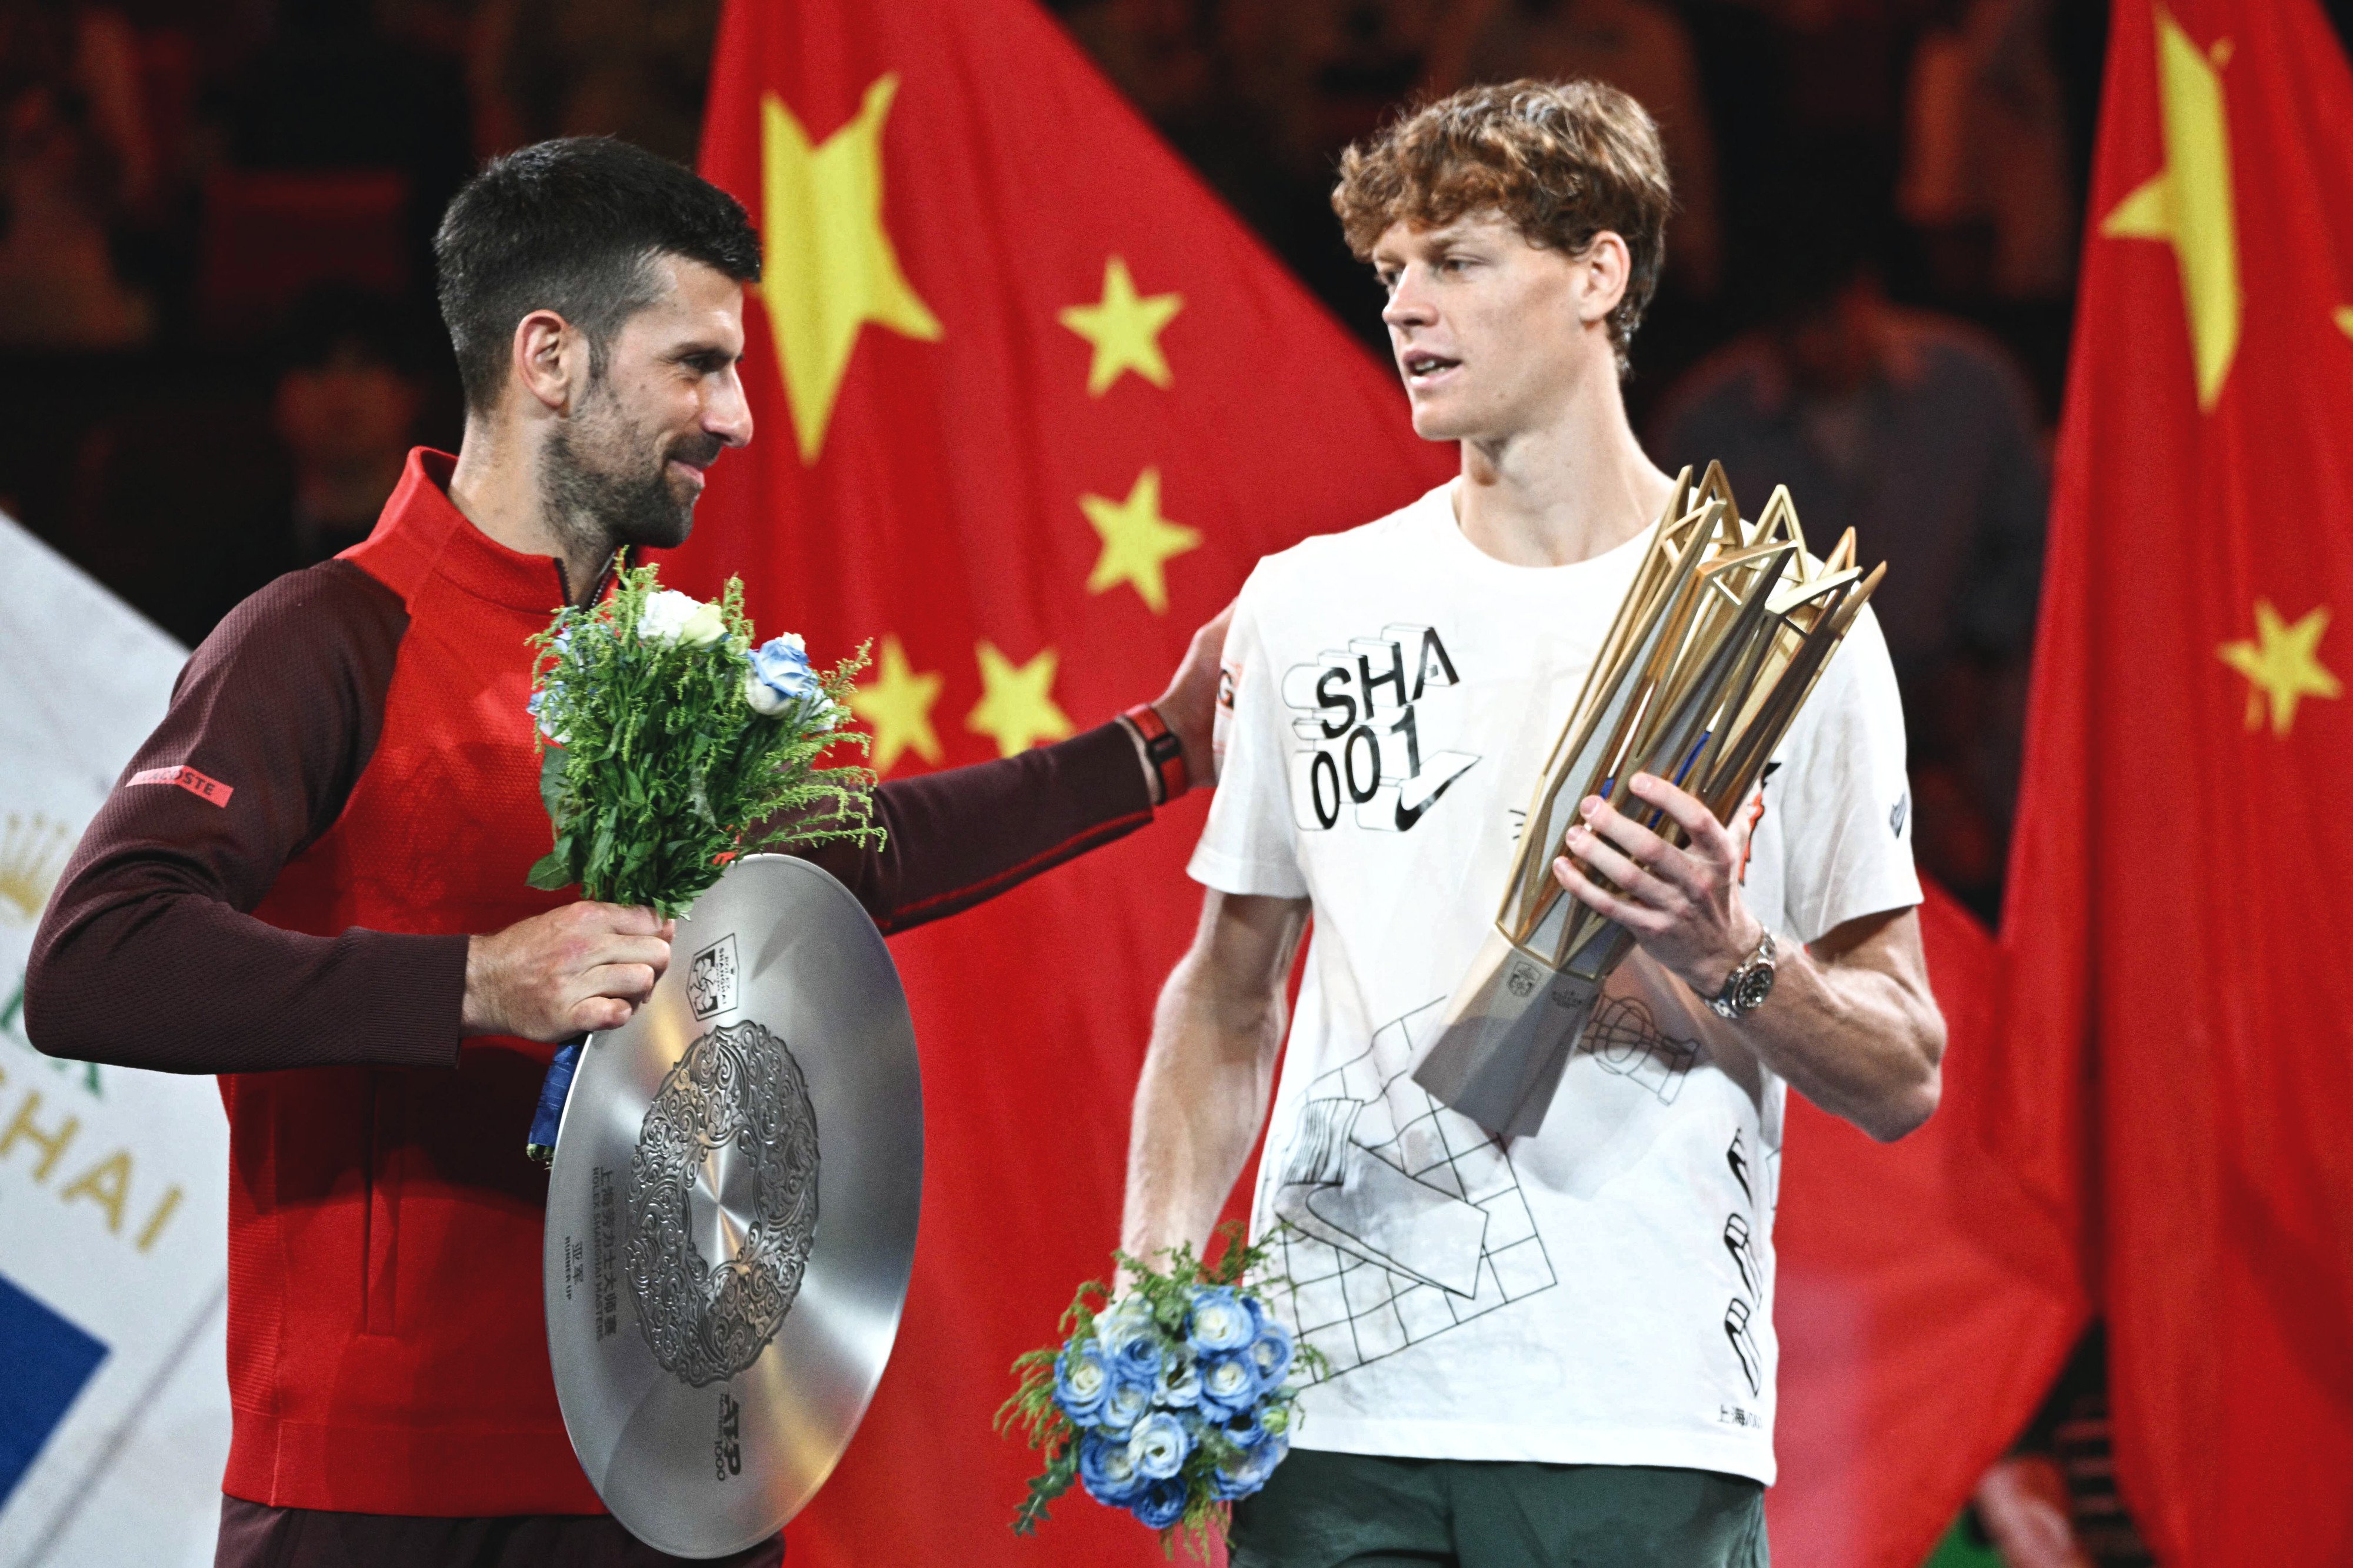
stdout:
POLYGON ((33 937, 33 1045, 184 1074, 456 1062, 466 937, 306 937, 247 913, 341 815, 405 631, 391 589, 329 560, 205 638, 33 937))

